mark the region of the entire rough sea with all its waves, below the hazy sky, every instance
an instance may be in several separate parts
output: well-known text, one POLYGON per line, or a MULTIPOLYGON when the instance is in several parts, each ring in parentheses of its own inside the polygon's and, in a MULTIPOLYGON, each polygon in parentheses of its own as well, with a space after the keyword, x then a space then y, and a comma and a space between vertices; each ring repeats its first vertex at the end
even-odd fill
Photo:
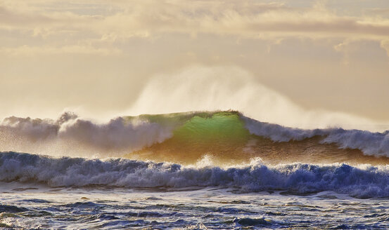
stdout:
POLYGON ((238 111, 0 125, 1 229, 388 229, 389 132, 238 111))

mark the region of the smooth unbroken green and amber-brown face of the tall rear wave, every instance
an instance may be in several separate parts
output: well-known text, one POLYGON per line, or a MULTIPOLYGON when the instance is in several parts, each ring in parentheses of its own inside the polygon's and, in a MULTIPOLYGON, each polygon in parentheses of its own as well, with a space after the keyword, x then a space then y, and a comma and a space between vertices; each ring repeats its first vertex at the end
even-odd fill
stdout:
POLYGON ((238 111, 141 115, 125 119, 141 119, 172 130, 170 139, 129 153, 128 158, 193 164, 207 155, 214 165, 248 163, 256 157, 266 163, 389 163, 389 158, 365 156, 357 149, 324 144, 323 136, 273 142, 250 134, 238 111))

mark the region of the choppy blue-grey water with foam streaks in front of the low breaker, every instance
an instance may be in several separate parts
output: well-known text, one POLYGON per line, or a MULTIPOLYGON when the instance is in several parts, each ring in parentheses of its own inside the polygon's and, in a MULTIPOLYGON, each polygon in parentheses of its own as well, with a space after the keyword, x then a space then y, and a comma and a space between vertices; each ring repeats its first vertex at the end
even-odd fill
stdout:
POLYGON ((323 191, 241 194, 227 188, 45 188, 7 184, 10 229, 388 229, 389 201, 323 191))

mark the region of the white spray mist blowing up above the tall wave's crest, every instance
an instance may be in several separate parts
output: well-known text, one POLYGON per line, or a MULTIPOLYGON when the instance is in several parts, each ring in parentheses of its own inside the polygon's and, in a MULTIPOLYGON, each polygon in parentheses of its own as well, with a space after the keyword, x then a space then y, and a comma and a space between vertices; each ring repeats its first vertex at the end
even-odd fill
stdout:
POLYGON ((376 121, 361 116, 305 109, 286 95, 264 86, 245 69, 225 66, 193 66, 156 75, 123 115, 228 109, 241 111, 257 121, 288 127, 385 130, 376 121))

